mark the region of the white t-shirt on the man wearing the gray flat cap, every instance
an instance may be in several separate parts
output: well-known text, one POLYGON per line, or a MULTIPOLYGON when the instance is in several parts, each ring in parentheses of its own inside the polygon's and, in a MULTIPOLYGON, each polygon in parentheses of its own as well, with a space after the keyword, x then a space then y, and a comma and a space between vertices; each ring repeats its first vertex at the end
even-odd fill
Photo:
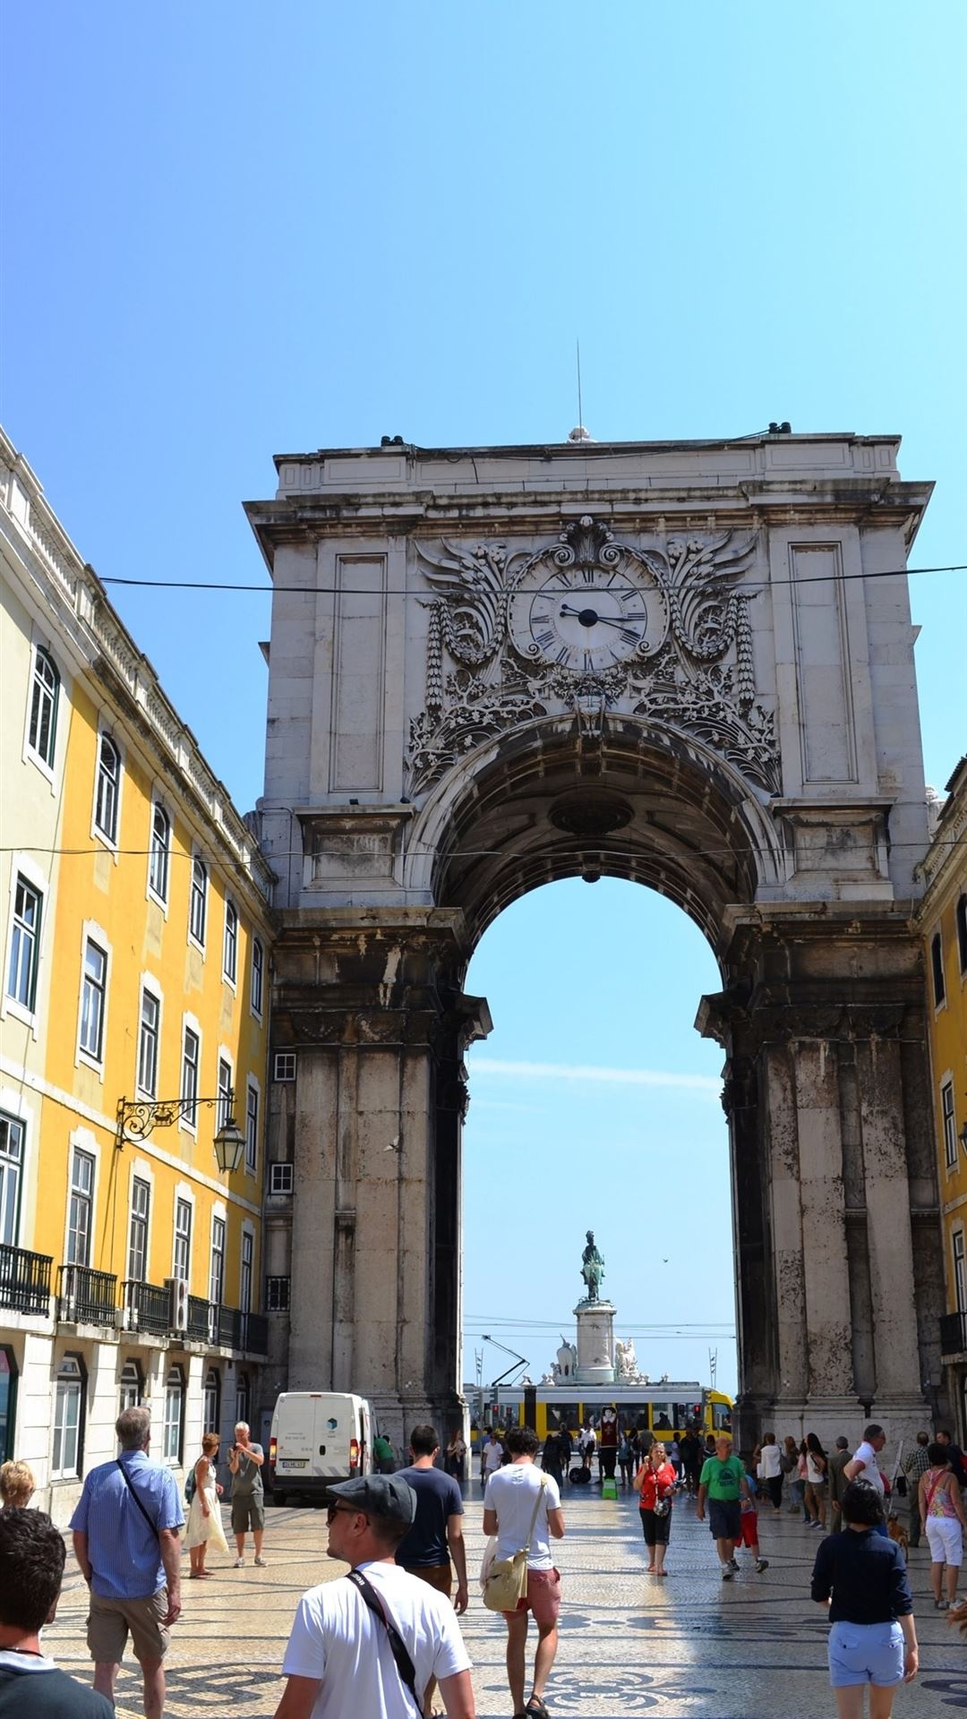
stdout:
MULTIPOLYGON (((430 1678, 470 1669, 456 1612, 442 1594, 399 1564, 360 1564, 399 1630, 416 1669, 416 1688, 430 1678)), ((311 1719, 415 1719, 416 1707, 389 1647, 389 1636, 351 1581, 325 1581, 299 1600, 282 1676, 322 1679, 311 1719)))

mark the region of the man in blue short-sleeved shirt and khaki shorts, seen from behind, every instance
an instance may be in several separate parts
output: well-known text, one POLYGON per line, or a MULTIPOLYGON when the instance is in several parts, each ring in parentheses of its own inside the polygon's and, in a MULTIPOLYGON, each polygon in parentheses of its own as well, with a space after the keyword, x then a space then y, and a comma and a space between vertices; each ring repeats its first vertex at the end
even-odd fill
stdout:
POLYGON ((117 1418, 120 1456, 84 1480, 71 1528, 74 1556, 91 1590, 88 1649, 95 1690, 114 1700, 127 1635, 145 1679, 145 1719, 165 1709, 163 1657, 181 1612, 181 1499, 169 1468, 148 1461, 151 1415, 117 1418))

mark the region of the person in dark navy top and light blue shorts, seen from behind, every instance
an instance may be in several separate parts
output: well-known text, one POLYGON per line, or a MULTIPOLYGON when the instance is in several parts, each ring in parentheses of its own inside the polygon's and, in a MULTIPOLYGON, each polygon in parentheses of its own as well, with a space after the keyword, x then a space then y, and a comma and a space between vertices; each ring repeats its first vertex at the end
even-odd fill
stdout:
POLYGON ((840 1719, 890 1719, 900 1683, 917 1674, 917 1631, 907 1564, 900 1547, 878 1533, 879 1492, 852 1480, 843 1492, 841 1533, 816 1554, 812 1599, 829 1606, 829 1683, 840 1719))

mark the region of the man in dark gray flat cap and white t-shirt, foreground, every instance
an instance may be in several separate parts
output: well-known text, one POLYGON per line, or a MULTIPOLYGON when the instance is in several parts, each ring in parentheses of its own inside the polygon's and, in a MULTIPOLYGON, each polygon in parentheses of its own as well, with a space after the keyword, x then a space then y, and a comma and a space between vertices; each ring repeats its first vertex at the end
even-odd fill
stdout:
POLYGON ((403 1475, 360 1475, 329 1487, 330 1557, 346 1581, 299 1602, 275 1719, 416 1719, 435 1678, 449 1719, 475 1719, 470 1657, 453 1606, 396 1563, 416 1514, 403 1475))

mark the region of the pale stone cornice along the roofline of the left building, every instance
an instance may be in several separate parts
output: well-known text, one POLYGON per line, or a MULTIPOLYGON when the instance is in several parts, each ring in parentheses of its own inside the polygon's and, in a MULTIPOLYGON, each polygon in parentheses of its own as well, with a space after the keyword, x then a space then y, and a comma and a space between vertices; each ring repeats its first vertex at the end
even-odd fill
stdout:
POLYGON ((36 474, 3 430, 0 430, 0 517, 36 579, 50 617, 60 619, 74 652, 93 674, 98 672, 100 662, 110 665, 119 686, 138 708, 141 732, 181 779, 188 798, 215 839, 268 902, 274 873, 256 841, 225 786, 206 763, 191 729, 165 698, 155 669, 138 650, 95 569, 81 559, 48 505, 36 474))

